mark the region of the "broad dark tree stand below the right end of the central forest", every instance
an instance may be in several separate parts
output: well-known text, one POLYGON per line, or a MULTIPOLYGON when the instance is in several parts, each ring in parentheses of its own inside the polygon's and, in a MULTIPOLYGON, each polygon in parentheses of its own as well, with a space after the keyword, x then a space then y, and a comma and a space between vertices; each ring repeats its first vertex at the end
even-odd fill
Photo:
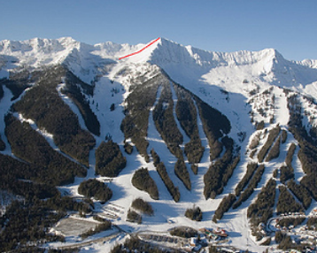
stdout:
POLYGON ((204 175, 204 196, 205 199, 215 198, 222 193, 223 188, 227 185, 232 176, 240 157, 234 157, 234 141, 225 136, 221 142, 224 143, 226 152, 220 159, 211 165, 204 175))

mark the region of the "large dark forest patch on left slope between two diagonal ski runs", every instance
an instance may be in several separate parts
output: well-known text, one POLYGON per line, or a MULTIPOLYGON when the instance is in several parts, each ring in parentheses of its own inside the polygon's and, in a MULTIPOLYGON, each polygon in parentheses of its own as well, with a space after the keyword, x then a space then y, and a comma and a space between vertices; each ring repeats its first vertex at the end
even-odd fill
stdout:
POLYGON ((35 120, 39 128, 53 134, 59 149, 88 166, 89 150, 96 141, 81 129, 77 116, 58 95, 57 86, 65 76, 66 69, 62 66, 43 71, 35 86, 13 104, 13 110, 35 120))

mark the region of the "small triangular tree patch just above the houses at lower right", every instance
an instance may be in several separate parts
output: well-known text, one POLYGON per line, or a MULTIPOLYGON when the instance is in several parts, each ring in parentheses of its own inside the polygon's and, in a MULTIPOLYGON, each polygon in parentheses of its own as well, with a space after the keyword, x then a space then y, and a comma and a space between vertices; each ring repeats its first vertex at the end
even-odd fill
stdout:
POLYGON ((276 205, 277 214, 304 211, 303 206, 297 203, 286 187, 279 187, 280 195, 276 205))

